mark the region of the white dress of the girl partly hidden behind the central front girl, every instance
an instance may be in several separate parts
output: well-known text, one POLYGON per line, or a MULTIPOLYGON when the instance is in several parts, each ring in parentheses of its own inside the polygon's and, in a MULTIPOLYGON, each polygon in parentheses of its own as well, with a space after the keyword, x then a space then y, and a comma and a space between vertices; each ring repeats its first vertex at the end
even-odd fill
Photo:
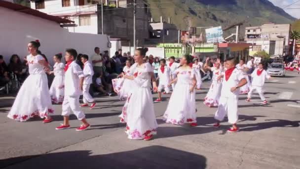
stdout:
MULTIPOLYGON (((132 69, 134 67, 136 67, 136 64, 132 65, 131 67, 125 66, 123 68, 124 74, 132 76, 132 69)), ((117 93, 120 100, 126 100, 131 93, 132 81, 124 78, 116 78, 112 80, 112 87, 113 91, 117 93)))

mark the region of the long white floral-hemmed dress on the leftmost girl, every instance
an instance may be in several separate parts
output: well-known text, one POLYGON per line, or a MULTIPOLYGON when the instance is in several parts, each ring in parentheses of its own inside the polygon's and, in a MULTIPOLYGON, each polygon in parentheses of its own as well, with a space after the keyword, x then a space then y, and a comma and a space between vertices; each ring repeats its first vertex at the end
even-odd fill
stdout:
POLYGON ((44 67, 38 63, 43 59, 41 55, 27 56, 30 75, 22 84, 7 115, 8 118, 24 122, 35 115, 44 118, 54 113, 47 75, 43 70, 44 67))

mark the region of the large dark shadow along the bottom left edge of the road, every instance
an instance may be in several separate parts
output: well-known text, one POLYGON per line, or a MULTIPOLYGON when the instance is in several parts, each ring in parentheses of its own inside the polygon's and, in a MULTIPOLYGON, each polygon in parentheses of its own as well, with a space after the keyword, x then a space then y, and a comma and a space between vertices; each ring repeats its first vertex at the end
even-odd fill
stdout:
POLYGON ((49 153, 0 160, 0 164, 0 168, 10 169, 37 169, 37 165, 42 165, 42 169, 205 169, 206 158, 164 146, 149 146, 104 155, 93 155, 91 150, 49 153))

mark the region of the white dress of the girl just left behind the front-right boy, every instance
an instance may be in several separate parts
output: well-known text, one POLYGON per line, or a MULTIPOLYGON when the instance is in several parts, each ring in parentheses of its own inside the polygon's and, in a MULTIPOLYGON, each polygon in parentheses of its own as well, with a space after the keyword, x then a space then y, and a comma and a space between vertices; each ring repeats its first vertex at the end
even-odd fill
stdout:
POLYGON ((209 91, 204 98, 204 104, 208 107, 214 107, 219 105, 219 99, 221 96, 222 79, 218 82, 218 77, 222 72, 220 69, 212 68, 213 82, 210 85, 209 91))

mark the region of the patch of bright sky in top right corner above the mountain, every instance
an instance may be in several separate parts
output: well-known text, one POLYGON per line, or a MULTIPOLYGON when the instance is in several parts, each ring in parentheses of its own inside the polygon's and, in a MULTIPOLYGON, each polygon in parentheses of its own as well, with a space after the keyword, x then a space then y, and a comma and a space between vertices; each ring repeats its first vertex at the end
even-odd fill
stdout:
MULTIPOLYGON (((276 6, 284 8, 285 6, 299 0, 269 0, 269 1, 271 1, 276 6)), ((287 8, 299 8, 299 9, 285 9, 285 11, 290 15, 294 16, 295 18, 300 19, 300 1, 287 8)))

